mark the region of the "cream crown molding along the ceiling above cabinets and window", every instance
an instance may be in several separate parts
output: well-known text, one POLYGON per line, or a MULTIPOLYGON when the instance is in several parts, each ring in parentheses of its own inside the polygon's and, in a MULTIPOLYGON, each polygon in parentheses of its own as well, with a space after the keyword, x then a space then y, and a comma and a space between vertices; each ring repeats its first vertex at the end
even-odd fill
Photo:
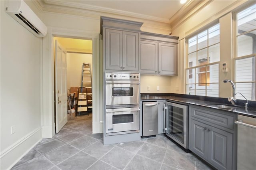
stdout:
POLYGON ((74 15, 96 20, 99 20, 100 16, 133 20, 143 22, 144 24, 142 28, 161 29, 164 30, 164 32, 170 32, 170 30, 173 30, 180 24, 184 23, 188 18, 196 14, 198 10, 204 8, 204 6, 212 1, 213 0, 189 0, 170 19, 64 0, 36 0, 32 2, 40 12, 74 15))

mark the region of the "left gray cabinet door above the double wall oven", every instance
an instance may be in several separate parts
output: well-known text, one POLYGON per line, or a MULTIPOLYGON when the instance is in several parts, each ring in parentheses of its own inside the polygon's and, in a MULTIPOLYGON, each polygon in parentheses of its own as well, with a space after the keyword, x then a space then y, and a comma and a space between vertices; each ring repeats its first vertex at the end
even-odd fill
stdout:
POLYGON ((106 29, 106 69, 122 70, 122 31, 106 29))

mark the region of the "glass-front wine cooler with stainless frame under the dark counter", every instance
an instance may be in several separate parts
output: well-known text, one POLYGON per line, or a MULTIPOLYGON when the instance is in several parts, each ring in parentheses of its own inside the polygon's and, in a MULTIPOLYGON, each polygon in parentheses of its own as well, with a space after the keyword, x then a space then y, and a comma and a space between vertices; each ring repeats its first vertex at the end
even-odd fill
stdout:
POLYGON ((166 102, 166 135, 186 148, 187 106, 166 102))

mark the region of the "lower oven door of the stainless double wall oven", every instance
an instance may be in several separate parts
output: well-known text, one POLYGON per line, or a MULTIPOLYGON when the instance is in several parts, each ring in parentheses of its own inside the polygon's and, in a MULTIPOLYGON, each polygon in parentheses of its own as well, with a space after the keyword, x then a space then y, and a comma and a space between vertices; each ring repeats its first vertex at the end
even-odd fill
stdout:
POLYGON ((140 129, 140 108, 106 109, 106 135, 132 133, 140 129))

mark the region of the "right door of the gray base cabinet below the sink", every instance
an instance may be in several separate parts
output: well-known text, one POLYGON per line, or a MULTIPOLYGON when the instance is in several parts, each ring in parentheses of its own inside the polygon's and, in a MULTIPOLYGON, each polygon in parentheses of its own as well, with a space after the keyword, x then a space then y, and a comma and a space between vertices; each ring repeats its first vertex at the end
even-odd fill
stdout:
POLYGON ((233 134, 209 127, 208 161, 220 170, 232 169, 233 134))

